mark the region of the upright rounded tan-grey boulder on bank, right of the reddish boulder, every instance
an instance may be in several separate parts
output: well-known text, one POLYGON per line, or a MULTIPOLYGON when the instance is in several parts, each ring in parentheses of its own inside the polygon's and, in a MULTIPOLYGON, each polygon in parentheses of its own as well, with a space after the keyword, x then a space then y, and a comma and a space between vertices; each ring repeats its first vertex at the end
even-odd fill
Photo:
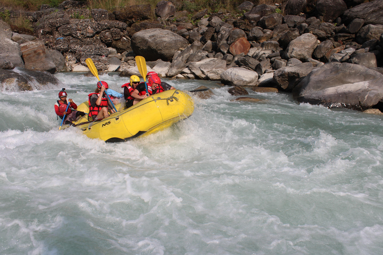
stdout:
POLYGON ((317 45, 317 37, 313 34, 305 33, 289 43, 284 56, 287 59, 297 58, 299 60, 307 60, 308 58, 311 58, 317 45))

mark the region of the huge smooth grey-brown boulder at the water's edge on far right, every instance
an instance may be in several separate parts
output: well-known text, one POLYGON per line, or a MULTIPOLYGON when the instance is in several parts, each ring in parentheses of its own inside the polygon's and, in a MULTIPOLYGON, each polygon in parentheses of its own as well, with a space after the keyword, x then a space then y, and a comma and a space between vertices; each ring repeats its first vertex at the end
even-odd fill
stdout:
POLYGON ((355 110, 372 108, 383 99, 383 75, 365 66, 328 63, 314 69, 293 90, 302 103, 355 110))

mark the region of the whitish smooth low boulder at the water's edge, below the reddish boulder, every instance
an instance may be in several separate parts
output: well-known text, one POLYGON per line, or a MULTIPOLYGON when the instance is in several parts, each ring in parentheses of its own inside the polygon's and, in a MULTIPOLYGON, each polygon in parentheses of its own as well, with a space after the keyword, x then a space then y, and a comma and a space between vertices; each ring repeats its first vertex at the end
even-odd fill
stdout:
POLYGON ((242 67, 232 67, 223 71, 220 79, 228 86, 256 86, 258 74, 242 67))

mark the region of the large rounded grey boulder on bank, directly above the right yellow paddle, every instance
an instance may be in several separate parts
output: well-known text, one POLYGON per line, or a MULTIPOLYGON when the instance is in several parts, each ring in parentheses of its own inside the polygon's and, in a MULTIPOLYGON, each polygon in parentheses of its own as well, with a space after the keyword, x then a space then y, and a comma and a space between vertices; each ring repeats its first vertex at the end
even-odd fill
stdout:
POLYGON ((187 39, 161 28, 141 30, 133 34, 131 40, 133 52, 147 61, 170 61, 177 50, 183 50, 187 46, 187 39))

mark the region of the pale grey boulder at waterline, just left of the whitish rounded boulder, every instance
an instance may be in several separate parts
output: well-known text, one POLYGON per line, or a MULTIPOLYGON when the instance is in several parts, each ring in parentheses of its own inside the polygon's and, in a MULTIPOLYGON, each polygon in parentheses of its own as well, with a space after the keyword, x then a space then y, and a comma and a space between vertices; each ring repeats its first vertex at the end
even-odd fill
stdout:
POLYGON ((216 58, 205 58, 188 64, 192 73, 205 80, 219 80, 221 73, 226 70, 226 61, 216 58))

